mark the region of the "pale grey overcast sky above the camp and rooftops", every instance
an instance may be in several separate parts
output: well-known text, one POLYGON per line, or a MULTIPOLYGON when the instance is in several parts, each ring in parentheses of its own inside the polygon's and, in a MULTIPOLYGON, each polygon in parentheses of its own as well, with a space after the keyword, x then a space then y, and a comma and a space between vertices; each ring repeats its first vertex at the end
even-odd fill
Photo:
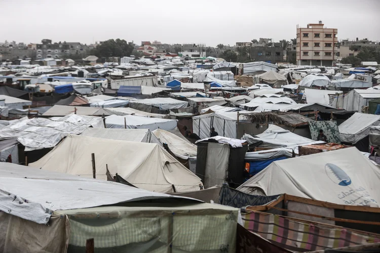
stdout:
POLYGON ((322 20, 338 39, 380 40, 380 0, 0 0, 0 41, 91 44, 122 38, 235 45, 290 40, 296 25, 322 20))

